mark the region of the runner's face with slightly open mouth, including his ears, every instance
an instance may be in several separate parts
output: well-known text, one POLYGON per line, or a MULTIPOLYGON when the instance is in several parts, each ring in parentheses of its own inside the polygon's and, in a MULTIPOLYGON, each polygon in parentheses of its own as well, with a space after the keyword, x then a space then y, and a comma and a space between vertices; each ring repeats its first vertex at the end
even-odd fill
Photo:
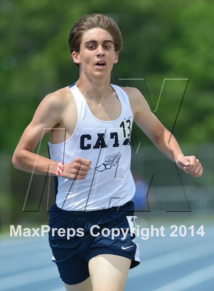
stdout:
POLYGON ((85 74, 97 77, 109 75, 113 64, 118 61, 111 34, 101 28, 86 31, 82 36, 79 53, 73 52, 72 56, 85 74))

